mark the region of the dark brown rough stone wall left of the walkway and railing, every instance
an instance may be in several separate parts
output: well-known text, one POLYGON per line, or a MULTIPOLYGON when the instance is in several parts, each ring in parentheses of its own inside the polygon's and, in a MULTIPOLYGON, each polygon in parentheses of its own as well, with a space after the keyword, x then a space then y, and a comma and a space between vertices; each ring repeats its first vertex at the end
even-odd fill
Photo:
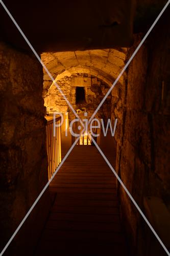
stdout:
MULTIPOLYGON (((3 43, 0 45, 0 65, 1 250, 47 182, 47 160, 42 67, 32 55, 3 43)), ((47 205, 44 207, 47 209, 47 205)), ((23 242, 29 252, 31 238, 36 234, 35 221, 41 217, 44 220, 45 212, 44 208, 36 208, 25 226, 27 232, 14 239, 14 247, 21 248, 23 242), (31 226, 35 227, 35 233, 31 226)), ((15 250, 9 255, 15 255, 15 250)))

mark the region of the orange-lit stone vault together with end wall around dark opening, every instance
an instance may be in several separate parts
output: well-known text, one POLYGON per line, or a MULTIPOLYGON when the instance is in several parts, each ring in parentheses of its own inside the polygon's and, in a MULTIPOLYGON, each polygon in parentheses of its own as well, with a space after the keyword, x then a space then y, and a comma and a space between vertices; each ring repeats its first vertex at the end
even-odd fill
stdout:
MULTIPOLYGON (((86 97, 86 105, 84 106, 87 109, 94 110, 123 68, 126 51, 126 48, 118 48, 75 52, 48 52, 42 53, 41 59, 76 109, 81 108, 81 106, 75 105, 75 87, 84 84, 86 97), (84 82, 85 78, 88 82, 84 82), (75 83, 75 79, 78 82, 75 83)), ((123 83, 124 76, 120 78, 118 87, 121 87, 123 83)), ((67 103, 57 91, 56 86, 52 85, 52 81, 45 70, 43 74, 42 95, 47 113, 53 113, 54 111, 65 112, 67 110, 67 103)), ((110 101, 111 95, 108 96, 100 110, 101 117, 104 119, 111 116, 110 101)))

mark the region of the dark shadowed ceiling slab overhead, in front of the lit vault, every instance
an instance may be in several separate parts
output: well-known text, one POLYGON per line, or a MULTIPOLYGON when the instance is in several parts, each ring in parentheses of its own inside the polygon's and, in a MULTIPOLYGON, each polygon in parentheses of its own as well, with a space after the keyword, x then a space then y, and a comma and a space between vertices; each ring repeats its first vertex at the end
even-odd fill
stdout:
MULTIPOLYGON (((127 47, 133 42, 134 0, 87 0, 84 5, 77 0, 50 0, 48 5, 18 0, 17 6, 8 0, 6 4, 38 52, 127 47)), ((3 8, 0 23, 5 24, 1 29, 3 40, 29 49, 3 8)))

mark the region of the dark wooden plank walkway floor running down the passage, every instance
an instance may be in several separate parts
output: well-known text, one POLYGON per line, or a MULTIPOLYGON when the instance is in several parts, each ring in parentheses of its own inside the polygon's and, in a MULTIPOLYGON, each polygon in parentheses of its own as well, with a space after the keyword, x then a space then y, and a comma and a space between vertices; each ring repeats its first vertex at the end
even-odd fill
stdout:
POLYGON ((127 255, 116 179, 95 146, 76 145, 50 185, 51 208, 36 255, 127 255))

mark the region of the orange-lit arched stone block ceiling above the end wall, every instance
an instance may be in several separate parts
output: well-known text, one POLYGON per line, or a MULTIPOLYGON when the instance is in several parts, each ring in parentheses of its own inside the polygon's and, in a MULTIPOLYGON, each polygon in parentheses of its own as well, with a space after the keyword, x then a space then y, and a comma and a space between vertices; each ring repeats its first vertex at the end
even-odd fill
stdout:
MULTIPOLYGON (((77 73, 96 76, 110 86, 125 65, 126 48, 87 50, 75 52, 42 53, 41 59, 55 80, 77 73)), ((123 82, 123 77, 119 83, 123 82)), ((44 71, 45 90, 49 89, 52 81, 44 71)))

